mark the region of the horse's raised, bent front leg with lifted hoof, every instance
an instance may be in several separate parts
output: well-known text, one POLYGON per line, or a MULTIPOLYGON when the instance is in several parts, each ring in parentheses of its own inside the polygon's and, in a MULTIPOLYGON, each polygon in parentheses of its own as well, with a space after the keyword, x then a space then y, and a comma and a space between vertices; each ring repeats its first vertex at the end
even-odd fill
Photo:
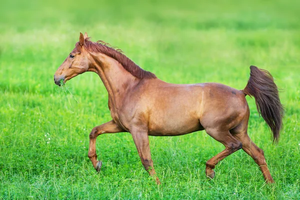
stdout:
POLYGON ((97 154, 96 154, 97 136, 103 133, 116 133, 116 132, 126 132, 126 130, 121 128, 113 120, 103 123, 102 125, 98 125, 91 130, 89 134, 88 157, 92 162, 92 165, 96 169, 96 171, 99 171, 102 165, 102 161, 97 160, 97 154))

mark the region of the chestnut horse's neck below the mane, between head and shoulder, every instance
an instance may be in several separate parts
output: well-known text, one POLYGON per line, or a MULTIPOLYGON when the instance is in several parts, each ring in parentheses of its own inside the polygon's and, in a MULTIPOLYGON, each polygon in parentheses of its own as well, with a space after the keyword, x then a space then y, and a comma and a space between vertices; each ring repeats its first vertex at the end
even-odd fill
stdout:
POLYGON ((93 54, 92 57, 95 61, 93 64, 95 70, 92 71, 100 76, 108 92, 109 106, 118 108, 125 94, 138 83, 139 79, 124 69, 117 60, 105 54, 93 54))

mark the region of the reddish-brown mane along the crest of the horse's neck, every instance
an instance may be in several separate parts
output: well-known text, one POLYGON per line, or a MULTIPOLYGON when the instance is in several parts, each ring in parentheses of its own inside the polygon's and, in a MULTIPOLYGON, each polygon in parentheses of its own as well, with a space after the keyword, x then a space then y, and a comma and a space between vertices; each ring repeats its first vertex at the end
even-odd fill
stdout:
MULTIPOLYGON (((76 48, 79 47, 79 42, 75 44, 76 48)), ((135 64, 131 59, 124 55, 121 49, 111 46, 102 40, 97 42, 90 41, 89 37, 84 39, 84 47, 88 51, 103 53, 113 59, 117 60, 128 72, 137 78, 156 78, 156 75, 150 71, 146 71, 135 64)))

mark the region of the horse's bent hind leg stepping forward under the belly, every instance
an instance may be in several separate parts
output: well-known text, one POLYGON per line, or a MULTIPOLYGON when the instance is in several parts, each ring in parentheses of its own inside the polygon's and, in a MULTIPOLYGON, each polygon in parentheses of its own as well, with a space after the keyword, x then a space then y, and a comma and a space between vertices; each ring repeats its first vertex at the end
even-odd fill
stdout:
POLYGON ((241 142, 235 139, 228 130, 220 131, 216 129, 208 129, 206 130, 207 134, 213 137, 215 140, 221 142, 225 149, 220 153, 216 154, 206 162, 206 176, 213 178, 214 171, 213 168, 215 165, 223 158, 227 157, 231 153, 241 148, 241 142))

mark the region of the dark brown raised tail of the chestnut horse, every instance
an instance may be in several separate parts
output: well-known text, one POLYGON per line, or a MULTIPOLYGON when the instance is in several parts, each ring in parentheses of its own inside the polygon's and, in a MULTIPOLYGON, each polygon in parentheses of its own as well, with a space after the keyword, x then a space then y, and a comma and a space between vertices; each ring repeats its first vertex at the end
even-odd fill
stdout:
POLYGON ((284 109, 272 75, 267 70, 251 65, 248 83, 242 91, 254 96, 258 113, 273 132, 273 142, 278 142, 284 109))

